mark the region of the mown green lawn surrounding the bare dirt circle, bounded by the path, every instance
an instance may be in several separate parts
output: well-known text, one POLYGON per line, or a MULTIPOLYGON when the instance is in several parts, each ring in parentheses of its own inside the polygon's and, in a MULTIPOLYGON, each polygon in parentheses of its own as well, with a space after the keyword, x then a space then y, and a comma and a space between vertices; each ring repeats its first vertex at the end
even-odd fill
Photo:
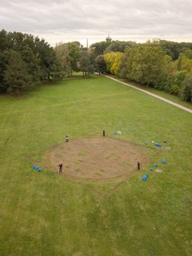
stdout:
MULTIPOLYGON (((108 78, 0 96, 0 255, 191 255, 191 127, 190 113, 108 78), (28 157, 41 159, 65 134, 97 137, 103 128, 140 145, 166 141, 171 150, 154 156, 166 158, 162 173, 142 182, 149 170, 141 170, 106 197, 32 170, 28 157)), ((102 192, 115 185, 86 184, 102 192)))

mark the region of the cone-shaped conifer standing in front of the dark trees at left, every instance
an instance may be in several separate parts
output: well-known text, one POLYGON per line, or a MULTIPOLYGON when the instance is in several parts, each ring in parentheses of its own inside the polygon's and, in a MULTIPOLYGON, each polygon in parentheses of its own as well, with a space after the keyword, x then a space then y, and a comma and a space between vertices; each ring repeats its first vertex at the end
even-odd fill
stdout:
POLYGON ((4 71, 4 81, 7 93, 11 95, 19 95, 32 88, 32 77, 27 72, 26 63, 16 51, 11 51, 10 60, 4 71))

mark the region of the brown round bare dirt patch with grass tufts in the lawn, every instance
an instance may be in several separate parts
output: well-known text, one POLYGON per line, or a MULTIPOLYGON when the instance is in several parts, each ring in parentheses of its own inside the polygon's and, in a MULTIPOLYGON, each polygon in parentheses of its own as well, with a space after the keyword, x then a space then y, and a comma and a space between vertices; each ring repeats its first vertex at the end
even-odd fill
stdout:
POLYGON ((81 138, 63 142, 50 151, 50 164, 74 178, 106 179, 132 174, 147 165, 142 146, 115 138, 81 138))

